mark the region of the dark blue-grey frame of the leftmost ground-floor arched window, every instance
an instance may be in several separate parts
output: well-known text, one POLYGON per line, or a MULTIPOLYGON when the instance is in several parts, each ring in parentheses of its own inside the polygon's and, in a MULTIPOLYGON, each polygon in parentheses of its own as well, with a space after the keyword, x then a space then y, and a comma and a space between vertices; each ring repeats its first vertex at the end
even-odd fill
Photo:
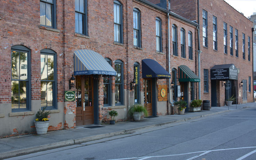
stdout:
MULTIPOLYGON (((22 112, 22 111, 30 111, 31 110, 31 50, 23 45, 14 45, 11 47, 11 52, 26 52, 27 53, 27 80, 21 79, 12 79, 11 81, 26 81, 26 108, 17 108, 11 109, 11 112, 22 112)), ((11 64, 12 64, 12 57, 11 57, 11 64)))

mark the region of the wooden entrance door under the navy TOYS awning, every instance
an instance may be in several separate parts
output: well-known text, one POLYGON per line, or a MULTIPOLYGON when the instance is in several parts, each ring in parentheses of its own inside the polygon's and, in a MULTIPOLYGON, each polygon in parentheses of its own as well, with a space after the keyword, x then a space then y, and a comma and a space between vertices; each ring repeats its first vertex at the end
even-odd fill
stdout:
POLYGON ((149 116, 152 116, 152 80, 144 79, 144 107, 149 116))

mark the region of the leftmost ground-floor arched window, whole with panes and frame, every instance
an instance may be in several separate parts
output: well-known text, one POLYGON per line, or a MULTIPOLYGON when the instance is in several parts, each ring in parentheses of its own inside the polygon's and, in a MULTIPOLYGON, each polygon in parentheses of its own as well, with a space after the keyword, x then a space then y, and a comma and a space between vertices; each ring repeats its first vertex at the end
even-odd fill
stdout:
POLYGON ((31 108, 30 54, 30 49, 23 45, 11 47, 12 112, 27 111, 31 108))

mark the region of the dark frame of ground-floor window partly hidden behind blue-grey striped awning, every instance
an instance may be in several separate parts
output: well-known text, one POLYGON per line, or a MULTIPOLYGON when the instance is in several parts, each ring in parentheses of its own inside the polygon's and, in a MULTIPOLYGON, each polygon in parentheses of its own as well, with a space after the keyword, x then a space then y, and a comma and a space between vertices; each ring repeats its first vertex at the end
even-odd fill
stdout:
MULTIPOLYGON (((110 66, 112 66, 112 61, 109 58, 105 58, 105 60, 110 64, 110 66)), ((103 88, 104 85, 108 85, 107 89, 108 89, 108 102, 109 103, 105 103, 104 102, 104 97, 103 97, 103 107, 108 107, 108 106, 112 106, 112 76, 104 76, 103 77, 103 88), (108 82, 104 81, 104 78, 108 78, 108 82)), ((104 94, 104 90, 103 90, 103 94, 104 94)))

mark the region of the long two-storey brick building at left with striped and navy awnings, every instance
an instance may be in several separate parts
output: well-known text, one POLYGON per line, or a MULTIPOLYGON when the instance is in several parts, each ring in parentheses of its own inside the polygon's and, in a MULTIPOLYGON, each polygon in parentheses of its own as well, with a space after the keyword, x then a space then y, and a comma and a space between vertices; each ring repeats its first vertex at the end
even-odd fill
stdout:
POLYGON ((145 0, 104 2, 2 1, 0 137, 35 132, 42 107, 57 130, 105 123, 113 109, 126 120, 135 103, 174 114, 173 100, 197 97, 198 25, 145 0))

